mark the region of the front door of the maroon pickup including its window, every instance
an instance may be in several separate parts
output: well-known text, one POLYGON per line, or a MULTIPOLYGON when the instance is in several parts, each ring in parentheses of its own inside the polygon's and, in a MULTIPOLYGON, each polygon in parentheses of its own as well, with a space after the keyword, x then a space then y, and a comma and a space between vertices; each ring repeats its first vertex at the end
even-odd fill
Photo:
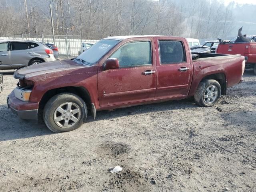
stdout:
POLYGON ((117 58, 120 68, 98 70, 100 107, 129 105, 154 100, 156 64, 152 54, 152 40, 126 42, 109 58, 117 58))

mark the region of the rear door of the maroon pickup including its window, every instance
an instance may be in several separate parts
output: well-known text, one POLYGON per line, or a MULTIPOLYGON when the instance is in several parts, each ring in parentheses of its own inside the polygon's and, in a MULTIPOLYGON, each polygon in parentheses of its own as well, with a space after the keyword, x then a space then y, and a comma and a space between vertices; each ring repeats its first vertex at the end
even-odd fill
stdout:
POLYGON ((183 38, 156 38, 157 85, 155 99, 183 98, 188 95, 193 63, 183 38))

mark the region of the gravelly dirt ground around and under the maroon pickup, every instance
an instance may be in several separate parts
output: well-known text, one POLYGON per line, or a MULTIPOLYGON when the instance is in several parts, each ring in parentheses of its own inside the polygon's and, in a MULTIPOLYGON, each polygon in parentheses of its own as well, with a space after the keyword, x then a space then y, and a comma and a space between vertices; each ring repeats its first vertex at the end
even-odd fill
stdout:
POLYGON ((181 100, 102 111, 61 134, 12 114, 17 80, 3 73, 0 191, 256 191, 252 72, 212 108, 181 100))

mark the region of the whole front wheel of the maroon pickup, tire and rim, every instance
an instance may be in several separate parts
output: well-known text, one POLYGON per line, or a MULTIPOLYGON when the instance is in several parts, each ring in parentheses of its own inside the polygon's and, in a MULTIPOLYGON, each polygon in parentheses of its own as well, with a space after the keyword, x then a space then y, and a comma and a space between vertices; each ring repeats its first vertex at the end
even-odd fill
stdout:
POLYGON ((87 117, 87 107, 82 98, 72 93, 53 96, 44 107, 44 122, 56 133, 79 128, 87 117))

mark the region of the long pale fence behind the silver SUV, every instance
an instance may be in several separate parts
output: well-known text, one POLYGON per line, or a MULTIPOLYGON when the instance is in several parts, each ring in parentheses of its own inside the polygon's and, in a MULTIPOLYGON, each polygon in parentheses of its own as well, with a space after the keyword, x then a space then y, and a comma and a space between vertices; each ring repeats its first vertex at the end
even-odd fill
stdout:
POLYGON ((24 39, 35 40, 42 43, 53 43, 58 47, 60 57, 70 58, 78 56, 82 52, 82 43, 96 43, 101 38, 82 39, 79 35, 28 35, 28 34, 13 34, 0 37, 1 39, 24 39))

